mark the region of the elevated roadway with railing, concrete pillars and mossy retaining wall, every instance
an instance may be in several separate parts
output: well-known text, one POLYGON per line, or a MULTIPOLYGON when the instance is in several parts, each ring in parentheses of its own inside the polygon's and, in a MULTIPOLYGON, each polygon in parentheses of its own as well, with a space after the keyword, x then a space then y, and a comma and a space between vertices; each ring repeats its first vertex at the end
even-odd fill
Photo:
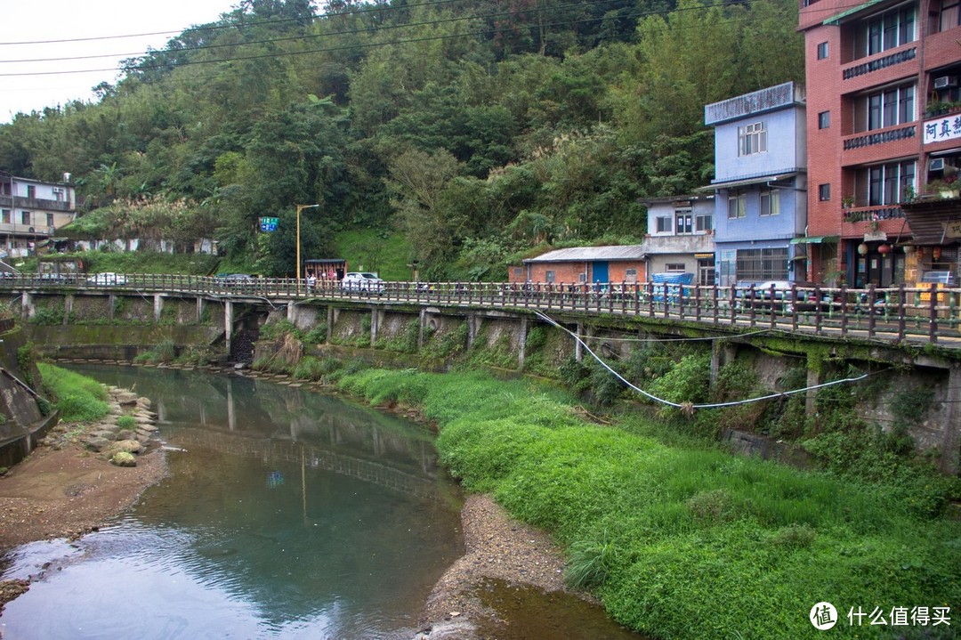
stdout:
MULTIPOLYGON (((24 320, 34 318, 24 325, 28 338, 41 354, 58 358, 130 359, 164 340, 219 348, 223 339, 230 353, 234 332, 244 330, 237 337, 246 337, 271 319, 289 320, 305 332, 326 322, 327 338, 309 352, 317 356, 438 369, 450 365, 449 357, 473 351, 494 366, 555 372, 568 357, 581 360, 597 351, 612 361, 630 357, 639 342, 697 339, 710 344, 712 383, 727 363, 742 360, 774 396, 804 393, 811 416, 816 389, 852 365, 879 376, 875 384, 904 393, 924 389, 930 402, 911 435, 919 449, 939 448, 945 469, 958 466, 958 288, 311 284, 180 275, 17 276, 0 278, 0 297, 24 320), (535 332, 538 327, 546 331, 535 332), (529 345, 534 335, 540 337, 529 345), (545 346, 545 340, 554 341, 545 346), (448 345, 455 348, 444 351, 448 345), (806 384, 785 388, 798 366, 806 384)), ((275 355, 269 341, 256 344, 262 349, 257 356, 275 355)), ((891 422, 890 408, 865 411, 891 422)))

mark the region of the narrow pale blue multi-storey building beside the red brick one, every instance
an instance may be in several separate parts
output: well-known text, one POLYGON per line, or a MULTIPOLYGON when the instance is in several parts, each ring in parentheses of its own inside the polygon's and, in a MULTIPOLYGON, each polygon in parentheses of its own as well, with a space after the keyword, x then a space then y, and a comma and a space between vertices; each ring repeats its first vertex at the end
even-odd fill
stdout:
POLYGON ((804 90, 771 86, 704 107, 714 127, 717 283, 806 280, 804 90))

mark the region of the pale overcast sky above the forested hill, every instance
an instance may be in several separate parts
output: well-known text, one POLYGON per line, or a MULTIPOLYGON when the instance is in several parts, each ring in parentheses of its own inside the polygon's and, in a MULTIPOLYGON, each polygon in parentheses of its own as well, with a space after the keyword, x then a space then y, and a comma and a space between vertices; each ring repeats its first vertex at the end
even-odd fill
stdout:
POLYGON ((236 4, 236 0, 4 0, 0 9, 0 124, 12 121, 20 111, 30 113, 72 100, 94 99, 91 87, 115 83, 121 60, 141 55, 148 47, 162 49, 187 27, 212 22, 236 4), (156 35, 116 37, 135 34, 156 35), (79 38, 99 39, 77 41, 79 38), (110 57, 15 62, 106 55, 110 57), (40 75, 51 71, 71 73, 40 75))

